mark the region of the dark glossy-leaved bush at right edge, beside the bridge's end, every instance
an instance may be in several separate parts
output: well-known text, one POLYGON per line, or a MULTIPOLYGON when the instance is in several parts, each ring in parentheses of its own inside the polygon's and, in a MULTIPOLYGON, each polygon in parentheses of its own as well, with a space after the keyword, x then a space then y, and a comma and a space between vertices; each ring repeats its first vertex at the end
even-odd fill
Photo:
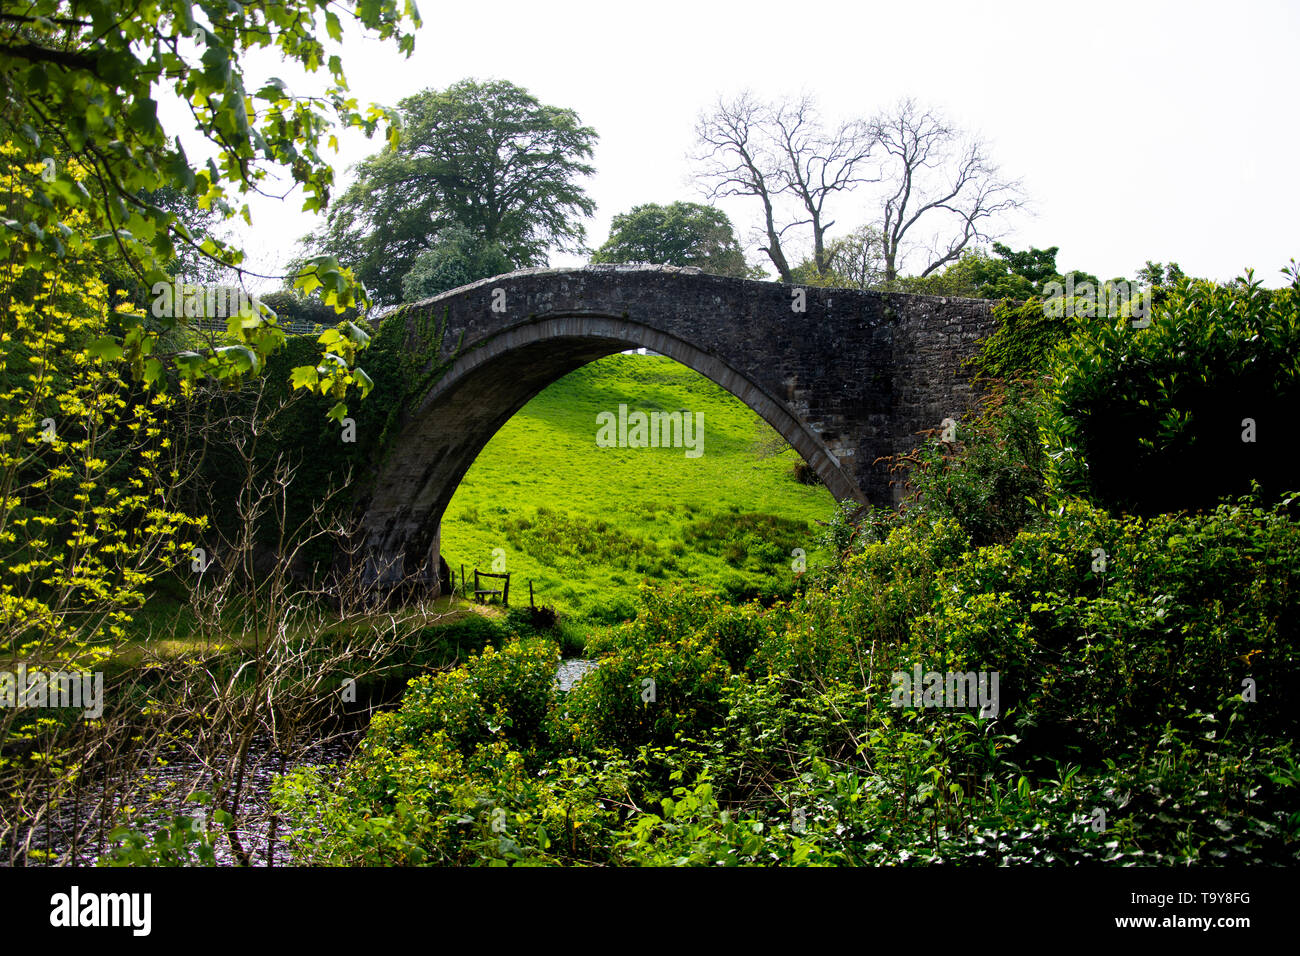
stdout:
POLYGON ((1149 328, 1080 324, 1053 364, 1061 490, 1136 514, 1209 507, 1252 479, 1266 501, 1288 490, 1288 429, 1300 418, 1295 264, 1288 276, 1275 291, 1249 273, 1230 285, 1182 278, 1149 328))

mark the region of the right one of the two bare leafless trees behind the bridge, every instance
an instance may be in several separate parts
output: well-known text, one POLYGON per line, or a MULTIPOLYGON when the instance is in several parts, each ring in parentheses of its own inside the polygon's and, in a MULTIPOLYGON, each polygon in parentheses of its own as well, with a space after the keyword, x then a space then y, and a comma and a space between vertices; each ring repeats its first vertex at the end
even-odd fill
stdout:
POLYGON ((987 144, 948 125, 942 117, 901 100, 871 124, 872 138, 888 159, 884 177, 893 185, 881 213, 884 281, 898 277, 905 246, 916 224, 933 222, 927 265, 920 276, 954 261, 974 241, 996 238, 988 226, 1024 204, 1018 181, 1001 177, 987 144))

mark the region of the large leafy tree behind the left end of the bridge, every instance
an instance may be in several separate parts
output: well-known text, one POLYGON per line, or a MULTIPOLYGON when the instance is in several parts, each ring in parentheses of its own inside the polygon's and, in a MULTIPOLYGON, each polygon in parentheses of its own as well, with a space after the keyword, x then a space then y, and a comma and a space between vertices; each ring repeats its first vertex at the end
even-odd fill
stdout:
POLYGON ((307 239, 350 263, 377 303, 402 302, 416 260, 458 226, 515 268, 545 265, 552 247, 584 251, 578 217, 595 203, 576 179, 594 172, 584 160, 597 134, 573 111, 514 83, 464 79, 408 96, 398 112, 400 142, 358 166, 325 229, 307 239))

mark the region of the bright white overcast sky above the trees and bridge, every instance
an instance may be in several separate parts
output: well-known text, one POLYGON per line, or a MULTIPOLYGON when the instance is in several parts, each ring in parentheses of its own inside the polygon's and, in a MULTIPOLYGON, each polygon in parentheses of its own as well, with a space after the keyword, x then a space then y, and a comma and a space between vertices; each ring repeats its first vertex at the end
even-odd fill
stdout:
MULTIPOLYGON (((1219 280, 1254 267, 1278 285, 1278 269, 1300 258, 1294 0, 424 0, 421 14, 410 60, 393 44, 348 39, 354 94, 395 105, 467 77, 499 78, 576 111, 601 135, 586 183, 598 206, 592 247, 633 206, 702 200, 688 160, 696 118, 749 87, 810 92, 827 120, 870 117, 901 96, 944 112, 1024 183, 1032 211, 1010 219, 1002 241, 1060 246, 1062 268, 1131 277, 1148 259, 1174 260, 1219 280)), ((282 75, 295 92, 325 77, 303 81, 269 61, 246 68, 250 79, 282 75)), ((344 138, 337 195, 346 168, 380 144, 344 138)), ((832 234, 875 217, 868 190, 837 207, 832 234)), ((300 206, 299 194, 254 206, 254 229, 240 232, 251 267, 282 264, 313 228, 300 206)), ((723 208, 742 238, 758 224, 751 203, 723 208)))

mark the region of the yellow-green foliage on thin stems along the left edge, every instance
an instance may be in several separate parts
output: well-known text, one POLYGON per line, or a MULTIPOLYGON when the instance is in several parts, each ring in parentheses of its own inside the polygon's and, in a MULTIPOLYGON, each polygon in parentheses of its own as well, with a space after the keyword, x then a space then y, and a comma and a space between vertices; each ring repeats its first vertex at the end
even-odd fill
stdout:
MULTIPOLYGON (((16 172, 0 176, 0 194, 21 191, 16 172)), ((0 653, 29 667, 107 653, 91 645, 122 636, 202 525, 169 497, 159 420, 172 399, 125 384, 112 312, 87 264, 0 267, 0 653)))

